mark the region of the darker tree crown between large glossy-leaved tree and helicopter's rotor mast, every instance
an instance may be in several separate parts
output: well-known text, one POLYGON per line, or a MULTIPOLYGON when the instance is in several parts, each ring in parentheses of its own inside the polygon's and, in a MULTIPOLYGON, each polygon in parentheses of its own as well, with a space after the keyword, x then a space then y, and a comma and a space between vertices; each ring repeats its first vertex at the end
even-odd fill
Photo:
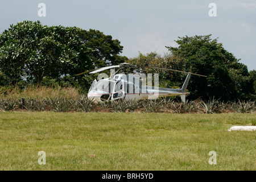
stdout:
POLYGON ((126 56, 120 56, 123 46, 119 40, 112 39, 111 35, 104 35, 99 30, 81 30, 80 36, 86 47, 93 49, 92 59, 97 68, 106 65, 116 65, 128 60, 126 56))

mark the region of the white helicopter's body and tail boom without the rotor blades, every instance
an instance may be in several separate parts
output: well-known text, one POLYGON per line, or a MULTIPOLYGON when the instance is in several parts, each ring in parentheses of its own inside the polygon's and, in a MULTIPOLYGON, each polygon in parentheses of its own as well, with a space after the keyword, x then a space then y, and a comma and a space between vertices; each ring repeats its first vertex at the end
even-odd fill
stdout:
POLYGON ((143 83, 138 75, 129 75, 129 77, 127 75, 115 75, 113 78, 94 80, 89 89, 88 97, 97 102, 121 98, 138 101, 168 96, 184 96, 185 98, 185 95, 189 94, 184 89, 160 88, 143 83))

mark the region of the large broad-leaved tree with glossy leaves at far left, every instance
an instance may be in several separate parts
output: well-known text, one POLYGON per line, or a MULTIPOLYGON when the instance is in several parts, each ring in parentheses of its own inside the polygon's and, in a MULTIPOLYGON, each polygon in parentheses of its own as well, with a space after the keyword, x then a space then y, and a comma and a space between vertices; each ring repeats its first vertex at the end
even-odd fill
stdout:
POLYGON ((80 39, 80 28, 43 26, 39 21, 11 25, 0 35, 0 71, 8 77, 75 75, 93 69, 92 50, 80 39))

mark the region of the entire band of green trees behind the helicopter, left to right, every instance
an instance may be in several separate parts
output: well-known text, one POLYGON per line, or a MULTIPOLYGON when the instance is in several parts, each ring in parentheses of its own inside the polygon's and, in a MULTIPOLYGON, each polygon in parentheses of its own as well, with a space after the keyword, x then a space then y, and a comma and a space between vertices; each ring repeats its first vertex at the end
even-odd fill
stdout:
MULTIPOLYGON (((79 86, 88 89, 97 75, 75 76, 108 65, 131 64, 191 71, 205 77, 191 76, 190 98, 221 97, 223 100, 255 99, 255 71, 247 70, 233 53, 224 49, 212 35, 184 36, 167 47, 170 52, 150 52, 128 59, 123 46, 111 35, 99 30, 77 27, 46 26, 39 21, 11 24, 0 35, 0 85, 17 82, 79 86)), ((159 73, 160 86, 181 87, 185 74, 159 69, 139 69, 143 73, 159 73)))

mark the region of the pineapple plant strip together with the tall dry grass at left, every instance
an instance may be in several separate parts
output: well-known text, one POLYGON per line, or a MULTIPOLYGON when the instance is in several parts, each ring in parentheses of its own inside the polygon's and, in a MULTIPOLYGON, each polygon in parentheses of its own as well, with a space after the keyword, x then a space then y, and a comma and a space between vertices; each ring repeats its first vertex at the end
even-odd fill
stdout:
POLYGON ((116 100, 94 102, 76 88, 47 88, 30 86, 0 87, 0 110, 2 111, 57 111, 57 112, 147 112, 147 113, 254 113, 255 101, 221 101, 220 98, 209 100, 186 100, 163 97, 156 100, 116 100))

